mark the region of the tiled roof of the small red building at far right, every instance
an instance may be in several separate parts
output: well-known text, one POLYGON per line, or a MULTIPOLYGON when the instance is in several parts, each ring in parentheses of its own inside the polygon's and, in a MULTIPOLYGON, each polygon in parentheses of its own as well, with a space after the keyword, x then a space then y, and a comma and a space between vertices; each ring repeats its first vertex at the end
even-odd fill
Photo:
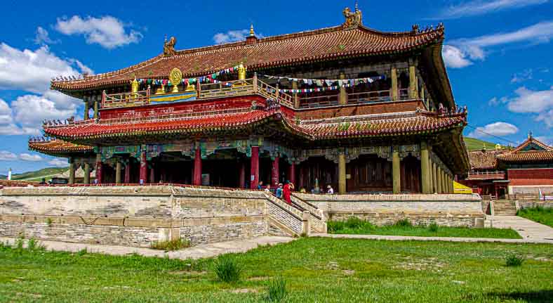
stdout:
POLYGON ((532 135, 513 150, 482 150, 469 152, 470 167, 473 170, 497 169, 500 162, 529 163, 553 162, 553 148, 532 135))

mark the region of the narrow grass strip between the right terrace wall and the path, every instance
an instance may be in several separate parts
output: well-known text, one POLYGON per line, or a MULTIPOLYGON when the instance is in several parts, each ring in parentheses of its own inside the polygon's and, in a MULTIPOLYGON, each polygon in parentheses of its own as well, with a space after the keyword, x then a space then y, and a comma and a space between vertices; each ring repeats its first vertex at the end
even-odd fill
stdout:
POLYGON ((447 227, 430 224, 413 226, 408 220, 397 221, 393 225, 375 226, 368 221, 355 217, 346 221, 328 221, 328 233, 382 235, 382 236, 420 236, 420 237, 460 237, 460 238, 503 238, 521 239, 517 231, 511 228, 467 228, 447 227))

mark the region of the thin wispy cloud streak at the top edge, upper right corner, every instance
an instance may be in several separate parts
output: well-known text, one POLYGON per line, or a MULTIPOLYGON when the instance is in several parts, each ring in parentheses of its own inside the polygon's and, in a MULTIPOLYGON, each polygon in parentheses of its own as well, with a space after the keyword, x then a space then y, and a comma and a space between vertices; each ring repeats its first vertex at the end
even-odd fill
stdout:
POLYGON ((512 8, 521 8, 536 4, 545 4, 548 0, 473 0, 462 2, 455 6, 445 8, 439 14, 439 19, 456 19, 471 15, 484 15, 496 11, 504 11, 512 8))

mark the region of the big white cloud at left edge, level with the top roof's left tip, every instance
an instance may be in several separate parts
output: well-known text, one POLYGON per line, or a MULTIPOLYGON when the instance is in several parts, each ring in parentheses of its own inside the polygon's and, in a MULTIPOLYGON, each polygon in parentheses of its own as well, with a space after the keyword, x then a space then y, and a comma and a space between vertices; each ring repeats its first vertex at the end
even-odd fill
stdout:
MULTIPOLYGON (((0 44, 0 89, 21 89, 44 93, 48 91, 53 77, 79 75, 73 63, 76 63, 76 60, 65 60, 55 56, 48 46, 41 46, 35 51, 29 49, 20 51, 2 43, 0 44)), ((90 70, 84 67, 79 68, 81 72, 90 70)))

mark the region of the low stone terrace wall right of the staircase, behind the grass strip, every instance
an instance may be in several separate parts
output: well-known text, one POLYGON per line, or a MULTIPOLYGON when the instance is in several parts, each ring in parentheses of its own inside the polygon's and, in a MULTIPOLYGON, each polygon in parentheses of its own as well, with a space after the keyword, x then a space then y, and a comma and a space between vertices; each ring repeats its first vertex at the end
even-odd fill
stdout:
POLYGON ((311 195, 295 193, 324 211, 331 220, 358 217, 373 224, 408 219, 413 224, 483 226, 478 195, 311 195))

